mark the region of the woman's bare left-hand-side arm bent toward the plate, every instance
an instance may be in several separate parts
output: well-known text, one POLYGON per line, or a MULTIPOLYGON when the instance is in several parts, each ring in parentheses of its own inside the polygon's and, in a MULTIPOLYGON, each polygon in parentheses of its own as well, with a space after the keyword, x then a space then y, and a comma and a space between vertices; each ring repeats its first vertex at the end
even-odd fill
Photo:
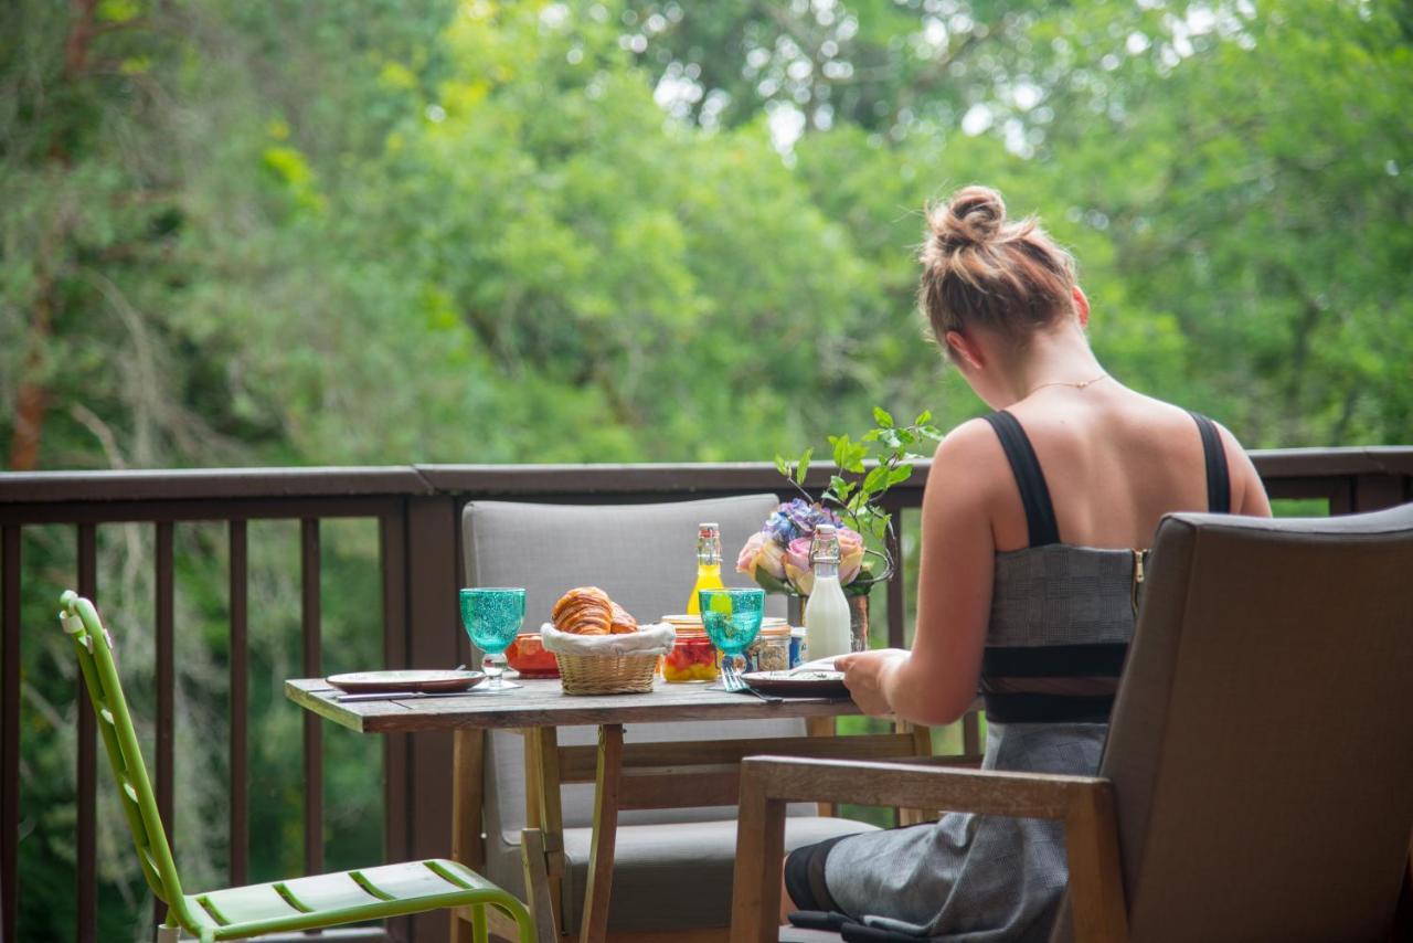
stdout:
POLYGON ((979 420, 952 430, 937 447, 923 492, 913 650, 835 662, 866 713, 950 724, 975 700, 995 573, 991 506, 998 476, 991 472, 1000 465, 996 435, 979 420))

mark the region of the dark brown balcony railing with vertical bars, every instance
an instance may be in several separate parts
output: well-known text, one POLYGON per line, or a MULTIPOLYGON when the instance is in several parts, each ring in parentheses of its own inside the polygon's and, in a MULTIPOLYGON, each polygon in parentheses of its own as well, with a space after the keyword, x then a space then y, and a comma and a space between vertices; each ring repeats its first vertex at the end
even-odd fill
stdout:
MULTIPOLYGON (((1308 502, 1301 510, 1351 513, 1413 500, 1413 448, 1279 450, 1253 454, 1273 499, 1308 502)), ((807 485, 827 484, 815 469, 807 485)), ((893 509, 921 503, 926 467, 889 493, 893 509)), ((387 667, 456 664, 468 656, 455 626, 461 585, 462 505, 472 499, 572 503, 677 500, 763 491, 784 491, 764 464, 735 465, 411 465, 391 468, 285 468, 222 471, 41 472, 0 476, 0 940, 14 940, 17 895, 30 875, 18 872, 21 816, 20 761, 21 646, 55 632, 52 621, 21 625, 21 602, 52 604, 62 588, 48 580, 25 582, 23 532, 71 529, 76 560, 68 577, 85 595, 99 598, 99 527, 141 525, 151 529, 155 737, 147 759, 155 768, 157 796, 171 828, 175 731, 175 588, 174 526, 188 522, 225 525, 229 560, 229 817, 208 823, 229 830, 229 882, 249 878, 250 768, 247 727, 249 525, 298 522, 300 649, 298 673, 322 674, 321 523, 370 519, 377 525, 382 642, 387 667)), ((901 549, 899 549, 901 550, 901 549)), ((886 590, 889 643, 904 642, 904 568, 886 590)), ((325 587, 326 590, 326 587, 325 587)), ((49 607, 52 609, 52 605, 49 607)), ((75 689, 75 696, 81 694, 75 689)), ((65 707, 65 705, 59 705, 65 707)), ((72 704, 66 705, 72 710, 72 704)), ((96 809, 99 792, 95 721, 86 704, 73 711, 78 737, 73 886, 75 936, 97 939, 96 809)), ((294 710, 294 708, 291 708, 294 710)), ((318 718, 302 730, 304 864, 324 865, 324 762, 318 718)), ((389 858, 445 855, 449 851, 451 741, 444 735, 393 735, 384 749, 384 850, 389 858)), ((444 918, 420 922, 418 939, 441 939, 444 918)))

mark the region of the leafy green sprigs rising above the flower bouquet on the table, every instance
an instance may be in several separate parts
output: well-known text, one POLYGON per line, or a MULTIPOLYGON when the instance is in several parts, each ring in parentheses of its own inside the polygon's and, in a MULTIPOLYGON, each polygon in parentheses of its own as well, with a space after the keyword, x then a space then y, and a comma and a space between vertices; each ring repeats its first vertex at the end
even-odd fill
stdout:
MULTIPOLYGON (((877 570, 866 564, 849 584, 855 587, 853 592, 868 592, 875 582, 893 575, 896 534, 893 515, 883 508, 883 495, 910 479, 916 462, 927 458, 916 451, 917 447, 941 441, 942 434, 931 420, 933 413, 924 410, 907 426, 899 426, 887 410, 875 406, 873 421, 877 426, 858 440, 848 433, 828 437, 835 472, 829 475, 829 486, 820 495, 820 503, 829 506, 846 526, 872 536, 877 547, 869 547, 866 553, 882 564, 877 570)), ((776 455, 776 469, 811 500, 814 498, 804 482, 812 458, 812 447, 793 462, 776 455)))

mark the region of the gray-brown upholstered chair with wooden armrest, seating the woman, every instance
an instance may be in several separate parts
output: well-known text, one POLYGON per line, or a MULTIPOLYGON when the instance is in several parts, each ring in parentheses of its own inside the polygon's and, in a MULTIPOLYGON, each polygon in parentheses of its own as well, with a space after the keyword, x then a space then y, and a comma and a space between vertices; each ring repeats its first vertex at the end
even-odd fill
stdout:
POLYGON ((738 943, 800 799, 1063 819, 1056 943, 1413 939, 1413 505, 1167 517, 1098 778, 747 759, 738 943))

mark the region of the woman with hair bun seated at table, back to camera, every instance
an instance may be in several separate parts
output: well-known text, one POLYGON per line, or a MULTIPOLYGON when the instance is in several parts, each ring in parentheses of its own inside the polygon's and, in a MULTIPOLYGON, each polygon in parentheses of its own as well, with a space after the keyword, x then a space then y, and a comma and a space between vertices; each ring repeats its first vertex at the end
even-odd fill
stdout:
MULTIPOLYGON (((1270 505, 1231 433, 1105 372, 1074 263, 1034 219, 1010 222, 998 192, 968 187, 928 229, 933 335, 998 411, 937 447, 913 650, 839 664, 866 713, 921 724, 955 721, 979 687, 988 769, 1094 775, 1159 519, 1270 505)), ((1065 879, 1060 823, 952 813, 791 853, 783 910, 1043 940, 1065 879)))

